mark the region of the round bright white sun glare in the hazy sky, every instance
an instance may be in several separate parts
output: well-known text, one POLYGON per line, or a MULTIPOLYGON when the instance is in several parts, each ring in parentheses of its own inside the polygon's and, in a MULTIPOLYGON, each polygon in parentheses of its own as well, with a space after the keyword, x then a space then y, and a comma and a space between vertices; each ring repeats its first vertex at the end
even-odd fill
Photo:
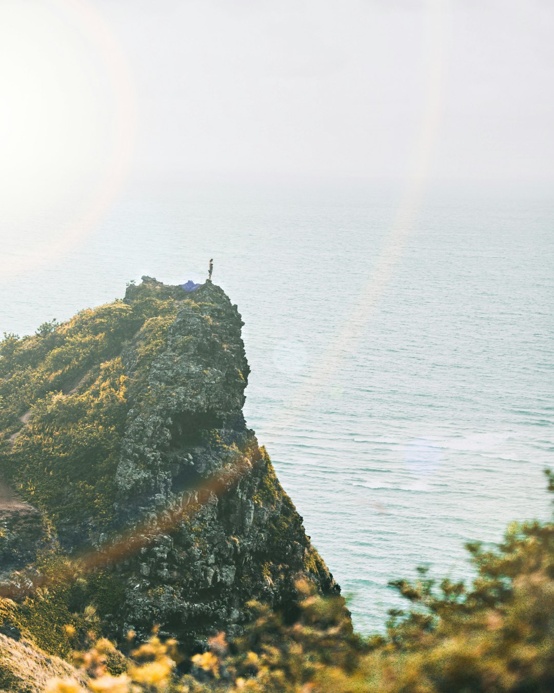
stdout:
POLYGON ((123 179, 133 119, 118 46, 83 0, 1 3, 0 65, 5 276, 98 220, 123 179), (39 238, 37 216, 48 220, 39 238))

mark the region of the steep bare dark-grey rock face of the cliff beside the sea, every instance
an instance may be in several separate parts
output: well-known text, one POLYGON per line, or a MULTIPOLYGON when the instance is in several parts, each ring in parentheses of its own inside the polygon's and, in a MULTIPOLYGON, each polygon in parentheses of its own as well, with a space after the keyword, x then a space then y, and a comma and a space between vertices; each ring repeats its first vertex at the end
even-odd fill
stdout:
MULTIPOLYGON (((155 622, 181 639, 232 631, 252 597, 292 603, 300 574, 337 590, 244 423, 249 366, 237 307, 211 283, 194 299, 129 395, 116 473, 116 507, 143 534, 120 567, 122 630, 143 633, 155 622)), ((129 374, 135 355, 135 347, 124 355, 129 374)), ((125 541, 118 550, 125 554, 125 541)))

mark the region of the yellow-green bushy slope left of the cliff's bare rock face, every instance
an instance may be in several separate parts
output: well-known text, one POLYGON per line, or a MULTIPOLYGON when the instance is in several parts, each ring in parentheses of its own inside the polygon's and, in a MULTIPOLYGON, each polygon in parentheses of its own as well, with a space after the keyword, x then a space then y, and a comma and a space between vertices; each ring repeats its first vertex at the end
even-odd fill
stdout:
POLYGON ((91 530, 109 528, 129 392, 164 349, 178 307, 145 283, 130 305, 82 310, 0 342, 0 468, 55 526, 88 518, 91 530), (129 379, 122 353, 132 339, 129 379))

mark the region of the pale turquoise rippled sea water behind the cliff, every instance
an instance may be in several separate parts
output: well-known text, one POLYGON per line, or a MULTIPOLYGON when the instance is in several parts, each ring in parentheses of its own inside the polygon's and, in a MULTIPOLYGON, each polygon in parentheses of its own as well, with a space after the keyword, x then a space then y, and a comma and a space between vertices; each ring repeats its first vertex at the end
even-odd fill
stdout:
POLYGON ((382 629, 389 579, 472 574, 463 544, 550 512, 554 203, 397 191, 134 187, 48 257, 73 207, 6 218, 0 330, 28 333, 149 274, 205 277, 237 303, 246 416, 307 533, 382 629), (43 255, 41 257, 41 254, 43 255))

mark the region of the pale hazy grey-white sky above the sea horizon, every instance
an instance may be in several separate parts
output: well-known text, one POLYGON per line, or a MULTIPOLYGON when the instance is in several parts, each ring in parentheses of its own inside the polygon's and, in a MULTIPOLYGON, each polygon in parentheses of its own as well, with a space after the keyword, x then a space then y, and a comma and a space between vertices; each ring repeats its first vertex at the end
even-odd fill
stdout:
POLYGON ((551 0, 0 0, 4 202, 177 174, 548 185, 553 36, 551 0))

